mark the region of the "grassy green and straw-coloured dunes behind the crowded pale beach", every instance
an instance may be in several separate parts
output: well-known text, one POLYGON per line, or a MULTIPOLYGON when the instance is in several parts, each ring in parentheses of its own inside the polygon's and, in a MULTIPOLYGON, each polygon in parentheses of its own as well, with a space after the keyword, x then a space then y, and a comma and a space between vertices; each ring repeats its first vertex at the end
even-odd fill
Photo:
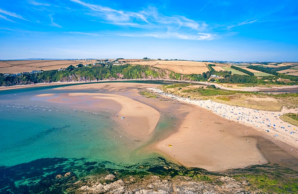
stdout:
POLYGON ((199 86, 193 84, 175 84, 160 86, 164 92, 177 96, 212 100, 231 106, 241 106, 264 111, 281 111, 283 107, 297 108, 298 94, 264 94, 257 92, 244 92, 222 90, 215 86, 199 86))

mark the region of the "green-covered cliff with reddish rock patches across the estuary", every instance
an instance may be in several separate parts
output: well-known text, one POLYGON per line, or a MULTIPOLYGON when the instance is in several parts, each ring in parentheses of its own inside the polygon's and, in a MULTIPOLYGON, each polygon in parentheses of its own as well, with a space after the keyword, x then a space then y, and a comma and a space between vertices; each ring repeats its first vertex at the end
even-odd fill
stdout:
POLYGON ((0 78, 0 86, 15 86, 35 83, 51 83, 51 82, 83 82, 98 80, 132 80, 132 79, 148 79, 148 80, 183 80, 191 81, 186 75, 175 73, 167 69, 158 69, 154 67, 138 67, 138 69, 121 69, 106 70, 104 73, 92 71, 92 69, 82 72, 63 72, 59 75, 57 72, 43 72, 41 74, 33 74, 30 77, 2 77, 0 78), (87 75, 86 75, 87 74, 87 75), (84 76, 83 76, 84 75, 84 76))

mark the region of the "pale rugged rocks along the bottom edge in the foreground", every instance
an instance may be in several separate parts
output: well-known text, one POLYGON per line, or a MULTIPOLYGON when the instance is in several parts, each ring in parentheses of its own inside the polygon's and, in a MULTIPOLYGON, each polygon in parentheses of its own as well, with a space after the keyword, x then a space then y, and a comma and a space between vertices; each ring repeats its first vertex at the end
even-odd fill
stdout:
MULTIPOLYGON (((106 178, 112 176, 106 176, 106 178)), ((114 177, 114 175, 113 175, 114 177)), ((103 178, 102 178, 103 179, 103 178)), ((104 178, 105 179, 105 178, 104 178)), ((174 179, 160 179, 151 176, 149 179, 136 181, 129 177, 125 182, 117 180, 110 184, 92 183, 84 185, 76 193, 108 193, 108 194, 257 194, 257 190, 249 190, 248 182, 238 182, 228 176, 219 176, 213 182, 196 181, 190 177, 176 176, 174 179)))

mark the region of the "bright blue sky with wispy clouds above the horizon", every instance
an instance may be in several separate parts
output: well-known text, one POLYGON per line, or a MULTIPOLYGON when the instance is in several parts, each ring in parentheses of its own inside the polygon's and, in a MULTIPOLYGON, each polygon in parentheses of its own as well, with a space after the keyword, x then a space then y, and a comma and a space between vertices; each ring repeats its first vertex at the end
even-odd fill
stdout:
POLYGON ((0 59, 298 61, 298 1, 0 0, 0 59))

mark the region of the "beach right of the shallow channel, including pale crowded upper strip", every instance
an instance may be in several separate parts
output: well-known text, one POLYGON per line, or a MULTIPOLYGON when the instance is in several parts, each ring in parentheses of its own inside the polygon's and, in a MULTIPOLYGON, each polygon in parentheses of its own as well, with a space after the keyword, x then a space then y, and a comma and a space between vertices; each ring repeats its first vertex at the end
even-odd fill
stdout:
POLYGON ((279 119, 279 115, 297 110, 258 111, 211 100, 184 99, 156 88, 152 90, 186 103, 188 114, 179 124, 178 132, 156 143, 156 148, 186 166, 223 171, 268 163, 270 159, 258 149, 260 140, 257 137, 265 137, 282 146, 285 152, 298 156, 298 127, 279 119))

